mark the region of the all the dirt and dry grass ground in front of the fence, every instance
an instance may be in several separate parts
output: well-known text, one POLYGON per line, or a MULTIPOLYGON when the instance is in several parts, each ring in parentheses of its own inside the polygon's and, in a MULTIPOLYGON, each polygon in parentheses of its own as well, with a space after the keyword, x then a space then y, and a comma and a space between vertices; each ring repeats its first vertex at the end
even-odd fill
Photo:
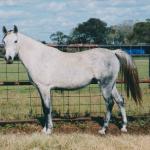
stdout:
POLYGON ((129 121, 128 133, 111 123, 105 136, 95 121, 55 122, 52 135, 41 133, 40 124, 16 124, 0 127, 0 149, 5 150, 149 150, 150 119, 129 121))

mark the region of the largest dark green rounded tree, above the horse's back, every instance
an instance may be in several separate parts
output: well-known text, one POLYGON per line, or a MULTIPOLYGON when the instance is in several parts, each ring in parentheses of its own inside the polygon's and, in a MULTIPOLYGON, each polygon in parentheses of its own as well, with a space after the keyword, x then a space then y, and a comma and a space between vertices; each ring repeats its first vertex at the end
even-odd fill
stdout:
POLYGON ((90 18, 73 29, 69 43, 106 43, 107 24, 100 19, 90 18))

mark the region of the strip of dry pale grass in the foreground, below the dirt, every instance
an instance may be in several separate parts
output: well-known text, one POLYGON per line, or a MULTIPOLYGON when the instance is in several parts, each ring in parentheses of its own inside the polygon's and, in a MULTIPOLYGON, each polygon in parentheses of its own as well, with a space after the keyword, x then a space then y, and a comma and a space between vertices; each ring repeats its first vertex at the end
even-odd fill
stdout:
POLYGON ((149 150, 149 135, 0 134, 1 150, 149 150))

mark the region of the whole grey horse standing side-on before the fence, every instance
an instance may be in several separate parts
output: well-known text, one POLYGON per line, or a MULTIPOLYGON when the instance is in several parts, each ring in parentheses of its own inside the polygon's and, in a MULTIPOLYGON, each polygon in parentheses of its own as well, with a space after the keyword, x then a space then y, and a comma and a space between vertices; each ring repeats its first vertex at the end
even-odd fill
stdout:
POLYGON ((50 90, 78 89, 90 84, 93 79, 101 85, 107 110, 104 125, 99 133, 105 134, 114 101, 118 104, 123 118, 121 131, 127 132, 124 99, 116 88, 120 70, 127 95, 131 94, 136 103, 141 103, 142 99, 137 68, 127 53, 119 49, 110 51, 104 48, 66 53, 19 33, 16 26, 10 31, 3 27, 3 33, 6 62, 12 63, 18 54, 39 91, 45 116, 44 133, 51 134, 53 128, 50 90))

